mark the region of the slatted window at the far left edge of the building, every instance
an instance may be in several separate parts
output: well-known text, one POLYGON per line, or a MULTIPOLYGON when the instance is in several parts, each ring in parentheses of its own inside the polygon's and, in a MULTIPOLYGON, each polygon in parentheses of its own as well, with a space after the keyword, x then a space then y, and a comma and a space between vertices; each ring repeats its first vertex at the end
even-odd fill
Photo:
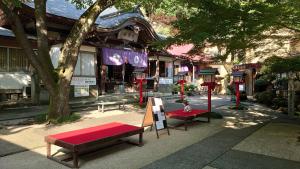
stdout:
POLYGON ((17 48, 0 47, 0 71, 29 71, 29 62, 24 52, 17 48))

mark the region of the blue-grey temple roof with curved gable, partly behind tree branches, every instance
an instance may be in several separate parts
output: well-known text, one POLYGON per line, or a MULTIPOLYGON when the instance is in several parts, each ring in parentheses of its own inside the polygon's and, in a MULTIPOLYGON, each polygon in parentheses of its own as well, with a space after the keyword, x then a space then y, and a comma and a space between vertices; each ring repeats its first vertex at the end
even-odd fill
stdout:
MULTIPOLYGON (((34 2, 26 2, 26 6, 33 9, 34 2)), ((76 5, 66 0, 47 0, 46 11, 51 16, 78 20, 85 12, 86 8, 78 9, 76 5)), ((152 38, 161 40, 162 36, 158 35, 150 23, 146 20, 139 10, 139 6, 132 11, 118 11, 114 6, 105 9, 95 21, 98 32, 112 32, 120 30, 128 25, 140 25, 152 38)))

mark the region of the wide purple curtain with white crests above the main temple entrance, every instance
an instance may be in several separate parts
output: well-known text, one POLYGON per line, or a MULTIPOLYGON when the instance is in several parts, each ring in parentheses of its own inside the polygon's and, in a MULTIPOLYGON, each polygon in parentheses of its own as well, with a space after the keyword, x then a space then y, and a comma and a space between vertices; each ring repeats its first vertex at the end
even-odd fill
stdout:
POLYGON ((103 63, 106 65, 122 65, 128 61, 134 67, 147 67, 147 53, 129 50, 103 48, 103 63))

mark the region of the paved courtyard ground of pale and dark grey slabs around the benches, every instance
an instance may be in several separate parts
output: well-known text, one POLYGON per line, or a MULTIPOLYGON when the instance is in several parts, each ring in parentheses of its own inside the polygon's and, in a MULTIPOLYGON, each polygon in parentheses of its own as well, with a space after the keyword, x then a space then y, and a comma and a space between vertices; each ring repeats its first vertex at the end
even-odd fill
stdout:
MULTIPOLYGON (((193 107, 205 108, 205 98, 190 97, 193 107)), ((224 119, 197 123, 188 131, 171 130, 168 136, 154 131, 144 134, 144 146, 118 144, 80 158, 80 168, 197 168, 197 169, 293 169, 300 168, 300 121, 289 119, 263 106, 249 105, 247 111, 229 110, 229 97, 213 97, 213 110, 224 119)), ((165 103, 167 110, 181 104, 165 103)), ((125 111, 81 112, 74 123, 45 126, 12 125, 0 130, 1 169, 67 168, 45 157, 44 136, 108 122, 140 126, 144 110, 127 106, 125 111)), ((169 120, 168 123, 178 123, 169 120)), ((137 140, 137 137, 131 137, 137 140)), ((54 151, 58 150, 55 147, 54 151)))

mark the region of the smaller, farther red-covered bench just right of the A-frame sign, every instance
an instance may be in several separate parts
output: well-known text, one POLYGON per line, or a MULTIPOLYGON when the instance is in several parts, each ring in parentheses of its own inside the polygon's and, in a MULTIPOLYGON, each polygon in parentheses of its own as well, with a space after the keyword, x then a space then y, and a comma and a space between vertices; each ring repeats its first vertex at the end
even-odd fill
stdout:
POLYGON ((187 130, 187 123, 197 117, 207 116, 207 121, 210 122, 209 112, 203 109, 192 109, 191 112, 184 112, 183 109, 166 112, 168 118, 184 120, 184 128, 187 130))

